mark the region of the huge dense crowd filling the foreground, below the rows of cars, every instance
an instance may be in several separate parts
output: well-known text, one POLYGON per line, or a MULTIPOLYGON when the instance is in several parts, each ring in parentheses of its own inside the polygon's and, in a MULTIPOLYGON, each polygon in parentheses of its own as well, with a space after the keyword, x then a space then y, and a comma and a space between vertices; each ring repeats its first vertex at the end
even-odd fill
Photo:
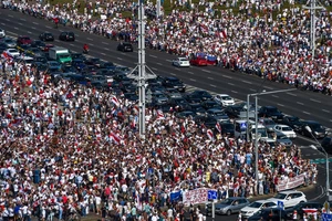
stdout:
MULTIPOLYGON (((117 220, 183 219, 184 208, 170 202, 174 190, 206 187, 219 199, 249 198, 276 192, 281 180, 298 175, 305 185, 315 182, 315 165, 295 146, 259 144, 256 183, 252 143, 210 136, 191 117, 152 108, 143 139, 137 103, 4 57, 0 71, 2 218, 63 219, 73 207, 117 220)), ((201 219, 201 211, 193 217, 201 219)))

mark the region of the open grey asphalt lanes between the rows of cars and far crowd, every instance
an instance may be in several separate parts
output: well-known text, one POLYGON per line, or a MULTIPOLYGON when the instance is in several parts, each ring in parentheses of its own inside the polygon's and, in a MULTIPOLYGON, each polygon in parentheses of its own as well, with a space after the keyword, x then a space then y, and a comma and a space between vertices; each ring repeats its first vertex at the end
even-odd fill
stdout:
MULTIPOLYGON (((60 42, 54 44, 65 46, 72 51, 82 52, 84 43, 90 45, 90 55, 114 62, 121 65, 134 67, 137 63, 137 49, 134 53, 122 53, 116 51, 117 42, 106 38, 81 32, 69 27, 59 27, 35 19, 33 17, 0 9, 0 27, 9 34, 29 35, 37 39, 43 31, 49 31, 58 39, 61 31, 71 30, 76 35, 75 42, 60 42)), ((293 88, 292 86, 263 81, 262 78, 248 74, 231 72, 222 67, 189 67, 177 69, 172 66, 172 60, 176 56, 155 51, 146 50, 146 63, 151 70, 158 75, 175 75, 180 77, 186 84, 194 87, 207 90, 216 93, 227 93, 241 101, 247 99, 247 94, 266 91, 277 91, 293 88)), ((253 101, 252 101, 253 102, 253 101)), ((259 98, 259 105, 273 105, 283 113, 294 115, 303 119, 314 119, 322 125, 332 128, 332 97, 313 92, 294 91, 272 95, 263 95, 259 98)))

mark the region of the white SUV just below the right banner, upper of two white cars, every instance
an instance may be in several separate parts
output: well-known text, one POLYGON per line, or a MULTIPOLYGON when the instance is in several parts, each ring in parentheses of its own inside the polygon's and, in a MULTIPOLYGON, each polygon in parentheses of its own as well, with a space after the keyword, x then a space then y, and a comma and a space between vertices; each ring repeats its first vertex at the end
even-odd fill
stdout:
POLYGON ((269 198, 269 201, 278 203, 278 201, 283 202, 284 208, 291 208, 300 202, 307 202, 305 194, 297 190, 287 190, 278 192, 274 197, 269 198))

